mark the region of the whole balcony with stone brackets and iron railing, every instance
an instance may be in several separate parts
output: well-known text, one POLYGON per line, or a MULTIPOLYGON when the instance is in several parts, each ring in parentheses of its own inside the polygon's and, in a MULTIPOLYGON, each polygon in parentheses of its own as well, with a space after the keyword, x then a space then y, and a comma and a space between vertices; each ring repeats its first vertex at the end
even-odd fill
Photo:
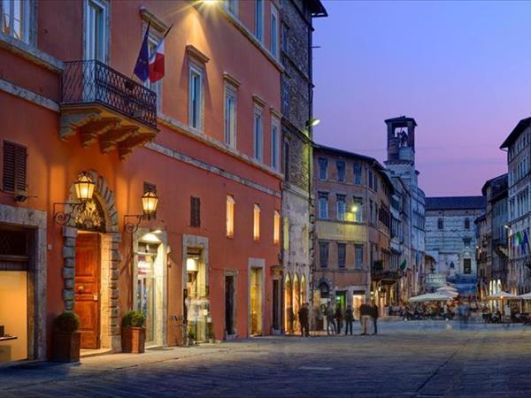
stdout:
POLYGON ((124 159, 158 134, 157 94, 96 60, 65 62, 59 138, 118 150, 124 159))

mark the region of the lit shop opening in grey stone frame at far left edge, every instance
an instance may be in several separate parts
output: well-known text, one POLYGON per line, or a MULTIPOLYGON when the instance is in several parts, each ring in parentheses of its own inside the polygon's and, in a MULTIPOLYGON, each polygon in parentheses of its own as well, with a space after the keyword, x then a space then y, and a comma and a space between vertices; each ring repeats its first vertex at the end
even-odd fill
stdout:
POLYGON ((46 214, 0 205, 0 364, 46 356, 46 214))

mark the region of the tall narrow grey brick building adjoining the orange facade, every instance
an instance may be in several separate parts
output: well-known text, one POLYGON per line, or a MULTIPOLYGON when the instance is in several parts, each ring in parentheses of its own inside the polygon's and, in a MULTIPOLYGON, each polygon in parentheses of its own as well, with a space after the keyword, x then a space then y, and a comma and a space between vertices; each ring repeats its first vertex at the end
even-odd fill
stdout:
POLYGON ((293 332, 312 283, 312 19, 326 17, 319 0, 281 2, 282 266, 284 330, 293 332))

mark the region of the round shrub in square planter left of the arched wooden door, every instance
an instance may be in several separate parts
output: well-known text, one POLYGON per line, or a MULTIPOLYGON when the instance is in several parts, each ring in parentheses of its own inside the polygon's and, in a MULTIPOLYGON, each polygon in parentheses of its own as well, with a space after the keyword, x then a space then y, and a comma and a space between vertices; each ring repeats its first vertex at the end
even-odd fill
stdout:
POLYGON ((80 360, 80 318, 73 311, 65 311, 53 321, 53 349, 51 359, 56 362, 80 360))

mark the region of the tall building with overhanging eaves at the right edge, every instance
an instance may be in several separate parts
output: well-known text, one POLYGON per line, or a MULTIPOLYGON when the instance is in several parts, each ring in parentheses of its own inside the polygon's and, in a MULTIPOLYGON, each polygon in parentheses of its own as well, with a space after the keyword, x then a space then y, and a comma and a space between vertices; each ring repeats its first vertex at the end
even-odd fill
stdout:
POLYGON ((529 185, 531 168, 531 118, 522 119, 501 145, 507 150, 508 165, 508 250, 507 287, 514 294, 531 291, 529 278, 529 185))

